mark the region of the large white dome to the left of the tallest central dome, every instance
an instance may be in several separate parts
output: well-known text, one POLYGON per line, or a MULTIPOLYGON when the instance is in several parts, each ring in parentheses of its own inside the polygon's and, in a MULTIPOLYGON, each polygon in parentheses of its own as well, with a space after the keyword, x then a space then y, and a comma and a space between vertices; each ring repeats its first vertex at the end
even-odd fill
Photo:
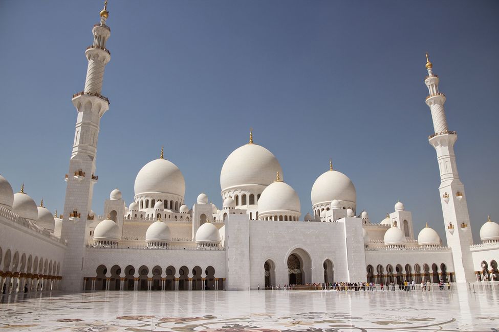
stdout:
POLYGON ((135 178, 135 195, 173 194, 184 197, 185 180, 179 168, 166 159, 149 161, 135 178))

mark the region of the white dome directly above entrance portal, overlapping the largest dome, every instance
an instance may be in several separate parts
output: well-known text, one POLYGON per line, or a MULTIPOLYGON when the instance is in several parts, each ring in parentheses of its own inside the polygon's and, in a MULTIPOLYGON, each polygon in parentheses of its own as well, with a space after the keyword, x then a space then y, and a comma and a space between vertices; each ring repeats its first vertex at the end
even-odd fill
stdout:
POLYGON ((283 181, 275 181, 267 186, 258 199, 259 214, 273 211, 293 211, 300 213, 300 199, 295 190, 283 181))

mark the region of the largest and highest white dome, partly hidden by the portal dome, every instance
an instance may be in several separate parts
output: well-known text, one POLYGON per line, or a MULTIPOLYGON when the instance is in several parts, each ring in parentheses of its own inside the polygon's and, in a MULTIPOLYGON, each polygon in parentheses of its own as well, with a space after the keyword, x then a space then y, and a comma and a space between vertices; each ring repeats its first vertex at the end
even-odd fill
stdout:
POLYGON ((257 144, 246 144, 235 149, 225 160, 220 186, 223 192, 248 184, 269 185, 277 172, 283 179, 283 169, 272 152, 257 144))

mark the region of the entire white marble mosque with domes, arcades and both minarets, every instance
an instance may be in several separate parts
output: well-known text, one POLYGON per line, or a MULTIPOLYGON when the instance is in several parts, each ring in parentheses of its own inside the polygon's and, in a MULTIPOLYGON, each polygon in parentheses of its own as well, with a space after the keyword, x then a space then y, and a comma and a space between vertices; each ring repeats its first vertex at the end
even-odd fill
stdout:
POLYGON ((245 290, 329 282, 499 280, 499 224, 488 219, 474 244, 464 184, 459 178, 445 95, 427 56, 424 83, 435 133, 439 197, 446 244, 426 225, 418 234, 411 212, 397 202, 380 222, 356 204, 345 174, 330 168, 311 190, 313 213, 301 217, 294 189, 277 158, 253 142, 225 160, 223 206, 201 193, 184 201, 181 170, 164 157, 149 161, 135 179, 134 201, 119 189, 92 211, 100 118, 109 109, 102 93, 111 29, 106 5, 85 51, 84 89, 77 110, 66 198, 61 215, 0 176, 0 286, 7 292, 55 290, 245 290))

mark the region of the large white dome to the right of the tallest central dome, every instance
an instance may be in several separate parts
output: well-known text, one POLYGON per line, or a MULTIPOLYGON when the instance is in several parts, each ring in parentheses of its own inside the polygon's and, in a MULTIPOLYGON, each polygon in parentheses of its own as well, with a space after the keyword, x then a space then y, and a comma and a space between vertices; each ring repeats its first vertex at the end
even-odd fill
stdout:
POLYGON ((329 204, 332 200, 355 203, 357 194, 348 176, 338 171, 322 173, 312 186, 312 205, 329 204))

